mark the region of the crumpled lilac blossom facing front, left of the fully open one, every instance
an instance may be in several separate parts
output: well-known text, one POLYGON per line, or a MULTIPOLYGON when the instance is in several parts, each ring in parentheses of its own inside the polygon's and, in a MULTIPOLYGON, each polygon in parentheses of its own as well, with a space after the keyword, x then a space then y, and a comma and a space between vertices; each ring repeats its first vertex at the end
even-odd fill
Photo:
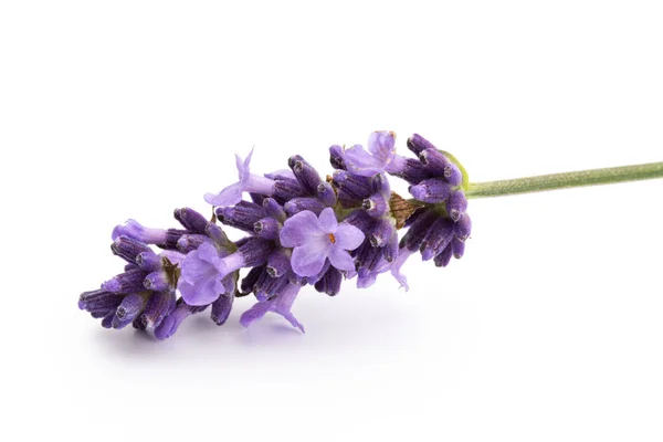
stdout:
POLYGON ((187 304, 210 304, 227 292, 228 284, 223 284, 222 281, 227 274, 222 255, 222 252, 207 242, 187 254, 178 283, 187 304))

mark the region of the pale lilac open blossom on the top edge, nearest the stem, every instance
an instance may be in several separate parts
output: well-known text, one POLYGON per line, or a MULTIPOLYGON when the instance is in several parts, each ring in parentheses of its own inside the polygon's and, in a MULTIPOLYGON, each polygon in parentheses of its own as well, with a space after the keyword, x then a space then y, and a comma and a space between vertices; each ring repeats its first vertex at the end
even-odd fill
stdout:
POLYGON ((346 169, 355 175, 372 177, 388 171, 398 173, 404 167, 406 159, 396 154, 396 134, 392 131, 373 131, 368 137, 368 151, 355 145, 343 154, 346 169))

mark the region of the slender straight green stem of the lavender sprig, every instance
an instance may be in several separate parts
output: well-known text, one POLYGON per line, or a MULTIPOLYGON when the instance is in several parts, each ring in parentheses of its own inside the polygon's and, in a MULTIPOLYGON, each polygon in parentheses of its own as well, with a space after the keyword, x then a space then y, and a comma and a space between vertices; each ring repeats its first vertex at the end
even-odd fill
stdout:
POLYGON ((541 175, 501 181, 471 182, 465 190, 465 196, 467 198, 490 198, 653 178, 663 178, 663 162, 541 175))

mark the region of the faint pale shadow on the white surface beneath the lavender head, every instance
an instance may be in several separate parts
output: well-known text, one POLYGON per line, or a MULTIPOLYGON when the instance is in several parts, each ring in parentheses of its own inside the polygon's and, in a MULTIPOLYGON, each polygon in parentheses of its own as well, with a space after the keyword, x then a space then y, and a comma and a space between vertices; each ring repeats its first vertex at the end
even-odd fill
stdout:
POLYGON ((106 347, 103 354, 107 358, 149 360, 149 364, 177 360, 193 365, 197 359, 212 365, 217 359, 224 365, 242 365, 242 355, 249 358, 255 348, 265 354, 283 352, 287 348, 291 355, 360 352, 362 348, 406 346, 417 339, 420 333, 417 315, 408 307, 410 303, 403 304, 402 293, 385 296, 346 293, 347 296, 338 299, 302 297, 297 316, 312 324, 306 335, 273 313, 244 328, 239 323, 241 309, 238 309, 221 327, 207 315, 192 316, 166 340, 158 340, 149 332, 109 333, 105 329, 99 329, 94 339, 106 347), (127 333, 134 336, 127 339, 127 333))

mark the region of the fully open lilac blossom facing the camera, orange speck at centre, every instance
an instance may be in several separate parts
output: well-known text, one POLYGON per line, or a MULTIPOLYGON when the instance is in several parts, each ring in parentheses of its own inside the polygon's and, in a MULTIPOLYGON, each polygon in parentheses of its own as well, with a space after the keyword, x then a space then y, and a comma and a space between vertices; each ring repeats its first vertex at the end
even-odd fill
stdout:
POLYGON ((294 248, 293 271, 299 276, 315 276, 327 259, 338 270, 355 270, 348 251, 357 249, 365 235, 354 225, 339 224, 334 210, 327 208, 319 218, 308 210, 290 218, 281 229, 280 238, 284 248, 294 248))

